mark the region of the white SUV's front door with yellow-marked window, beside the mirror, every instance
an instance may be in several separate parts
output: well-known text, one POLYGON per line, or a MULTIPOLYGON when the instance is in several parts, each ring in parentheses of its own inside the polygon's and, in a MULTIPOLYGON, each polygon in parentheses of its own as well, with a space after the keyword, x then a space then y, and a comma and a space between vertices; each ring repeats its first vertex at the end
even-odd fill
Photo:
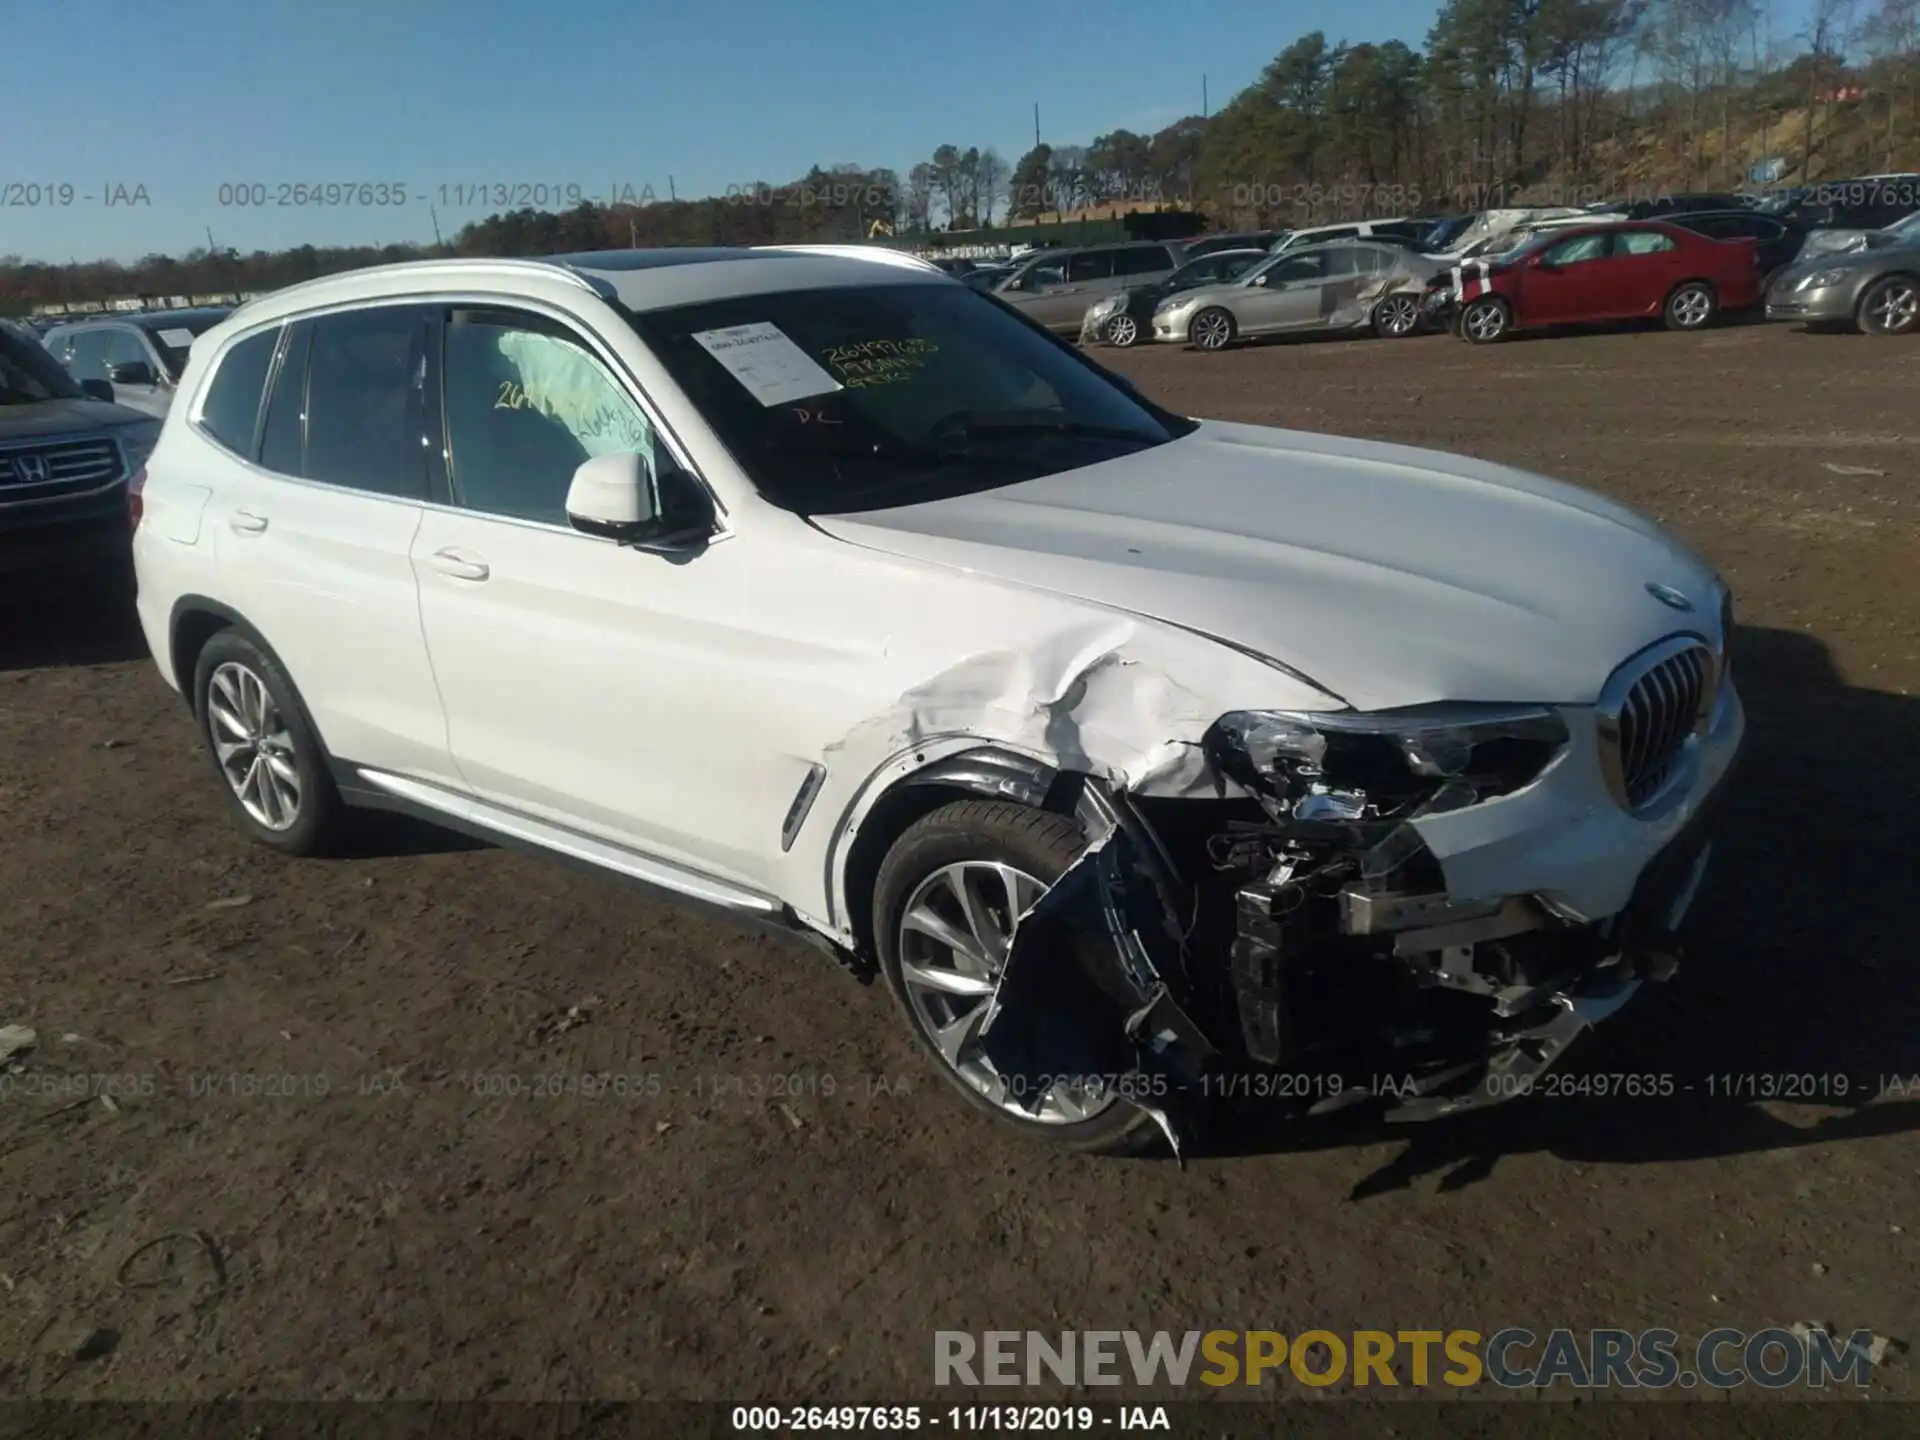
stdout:
MULTIPOLYGON (((566 518, 591 455, 668 451, 566 326, 451 309, 444 396, 451 507, 413 541, 447 743, 482 801, 764 889, 801 760, 745 739, 780 697, 751 674, 737 541, 655 555, 566 518)), ((758 733, 758 732, 755 732, 758 733)))

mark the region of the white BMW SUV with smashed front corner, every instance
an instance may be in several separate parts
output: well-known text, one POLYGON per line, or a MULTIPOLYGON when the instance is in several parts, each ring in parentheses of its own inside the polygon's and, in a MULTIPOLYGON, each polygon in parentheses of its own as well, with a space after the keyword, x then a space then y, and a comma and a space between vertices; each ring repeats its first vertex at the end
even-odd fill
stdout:
POLYGON ((778 927, 1077 1148, 1524 1092, 1670 973, 1743 730, 1632 511, 1171 415, 879 253, 282 290, 132 505, 257 841, 407 810, 778 927))

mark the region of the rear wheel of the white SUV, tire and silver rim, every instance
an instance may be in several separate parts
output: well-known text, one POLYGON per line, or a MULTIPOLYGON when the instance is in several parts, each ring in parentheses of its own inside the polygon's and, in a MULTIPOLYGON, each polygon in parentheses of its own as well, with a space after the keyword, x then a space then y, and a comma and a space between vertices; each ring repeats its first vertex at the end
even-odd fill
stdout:
POLYGON ((221 630, 194 664, 194 716, 240 828, 282 854, 324 854, 346 806, 307 707, 280 662, 240 630, 221 630))

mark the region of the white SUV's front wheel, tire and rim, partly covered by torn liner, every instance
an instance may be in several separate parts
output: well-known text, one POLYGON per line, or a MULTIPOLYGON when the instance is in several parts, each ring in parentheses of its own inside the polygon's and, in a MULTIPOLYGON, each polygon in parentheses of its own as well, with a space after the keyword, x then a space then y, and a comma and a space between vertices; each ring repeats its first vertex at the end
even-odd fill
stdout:
POLYGON ((908 826, 879 866, 874 939, 914 1039, 973 1110, 1068 1150, 1133 1152, 1158 1133, 1144 1110, 1066 1085, 1016 1098, 977 1050, 1021 912, 1085 849, 1066 816, 1002 801, 945 804, 908 826))

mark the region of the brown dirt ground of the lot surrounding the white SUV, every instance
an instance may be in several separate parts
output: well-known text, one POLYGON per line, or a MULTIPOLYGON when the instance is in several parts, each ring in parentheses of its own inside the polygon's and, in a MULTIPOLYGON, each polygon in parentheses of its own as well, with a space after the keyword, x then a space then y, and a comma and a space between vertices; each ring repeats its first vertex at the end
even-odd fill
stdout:
MULTIPOLYGON (((38 1048, 0 1096, 0 1396, 899 1402, 935 1329, 1920 1340, 1920 1104, 1882 1092, 1920 1077, 1920 346, 1116 365, 1188 413, 1594 486, 1732 578, 1751 739, 1693 945, 1571 1062, 1692 1092, 1054 1156, 806 950, 424 828, 252 849, 129 618, 8 595, 0 1025, 38 1048), (588 1071, 634 1079, 538 1092, 588 1071), (1849 1094, 1705 1094, 1728 1073, 1849 1094)), ((1920 1398, 1916 1365, 1874 1392, 1920 1398)))

